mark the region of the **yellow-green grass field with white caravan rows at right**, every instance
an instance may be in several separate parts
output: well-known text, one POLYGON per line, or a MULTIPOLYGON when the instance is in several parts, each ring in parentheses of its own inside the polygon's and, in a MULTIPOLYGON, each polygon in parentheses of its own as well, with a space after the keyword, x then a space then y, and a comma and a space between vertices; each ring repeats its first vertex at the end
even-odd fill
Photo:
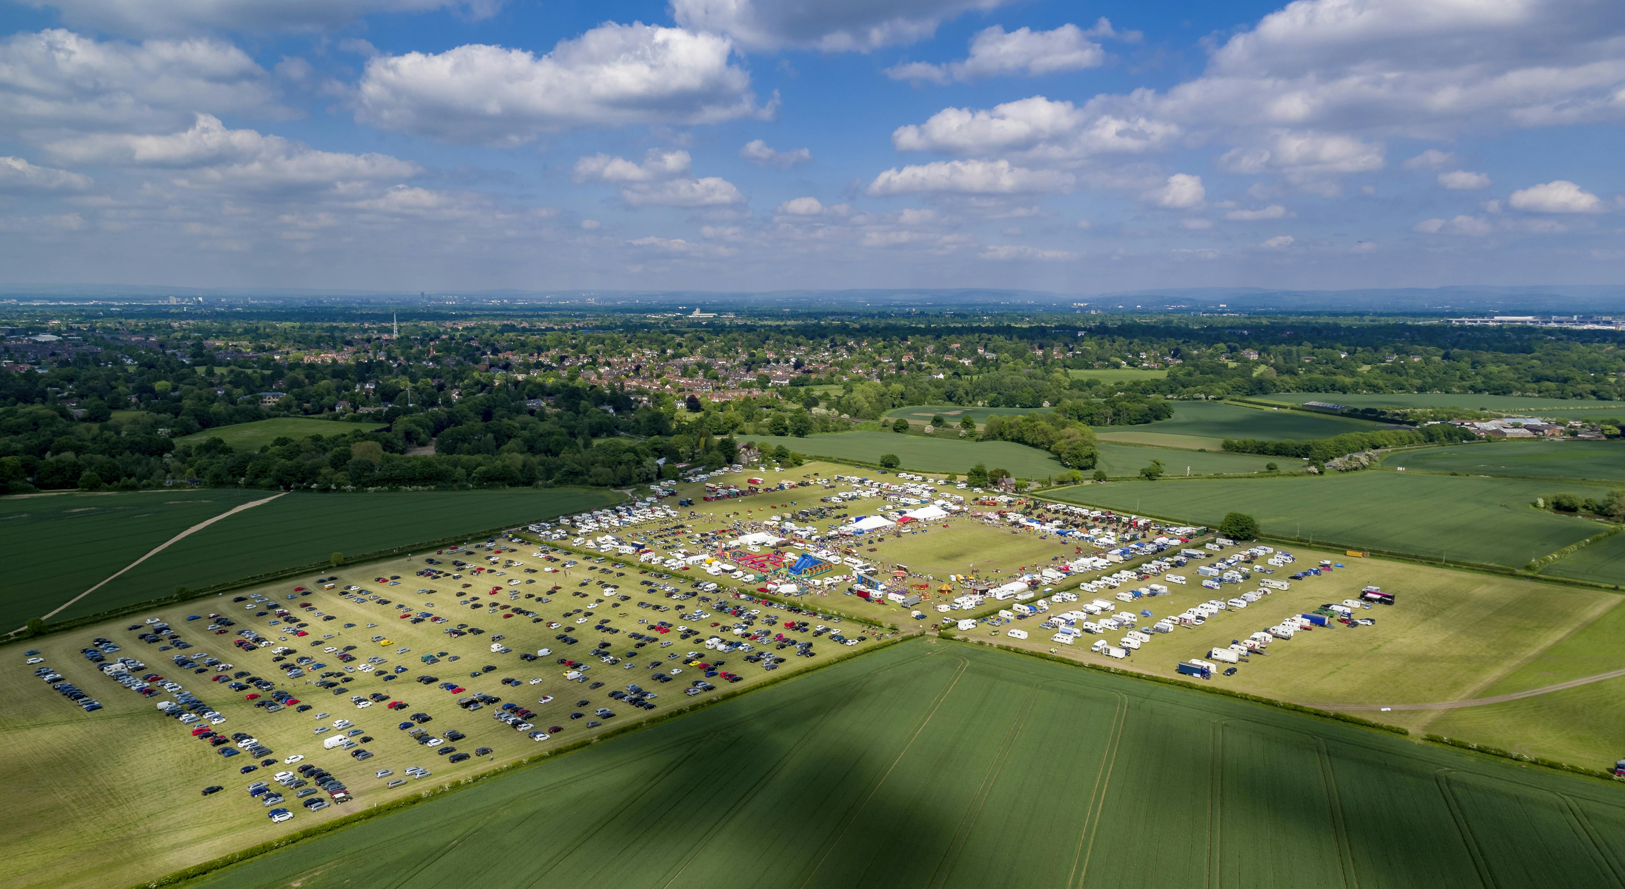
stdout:
MULTIPOLYGON (((1298 561, 1294 567, 1331 559, 1346 567, 1323 577, 1289 580, 1290 590, 1276 592, 1258 603, 1222 611, 1199 627, 1181 627, 1157 634, 1126 661, 1113 661, 1090 653, 1084 645, 1060 645, 1058 650, 1092 663, 1115 663, 1157 676, 1176 676, 1175 663, 1204 657, 1209 648, 1225 647, 1256 631, 1280 622, 1287 614, 1313 611, 1323 603, 1357 598, 1365 585, 1398 593, 1394 606, 1362 611, 1376 619, 1373 627, 1332 627, 1300 634, 1269 645, 1268 657, 1254 657, 1240 665, 1235 676, 1214 676, 1216 686, 1295 700, 1316 707, 1334 704, 1424 704, 1459 700, 1526 691, 1578 676, 1591 676, 1625 668, 1618 647, 1586 640, 1617 639, 1614 629, 1625 619, 1625 600, 1602 590, 1550 587, 1516 577, 1469 574, 1451 569, 1357 559, 1341 551, 1316 551, 1287 546, 1298 561), (1547 674, 1510 673, 1528 658, 1539 658, 1547 674), (1492 691, 1493 689, 1493 691, 1492 691)), ((1152 616, 1178 614, 1219 593, 1199 587, 1194 566, 1172 574, 1186 575, 1186 585, 1168 583, 1170 595, 1141 598, 1136 609, 1152 616)), ((1276 569, 1285 577, 1292 569, 1276 569)), ((1243 588, 1227 587, 1225 598, 1243 588)), ((1110 598, 1110 596, 1108 596, 1110 598)), ((1128 606, 1123 606, 1128 608, 1128 606)), ((1032 631, 1030 626, 1017 624, 1032 631)), ((978 639, 993 631, 973 631, 978 639)), ((1115 642, 1116 637, 1113 635, 1115 642)), ((1030 632, 1025 642, 999 634, 998 642, 1048 650, 1056 648, 1050 634, 1030 632)), ((1534 661, 1531 661, 1534 663, 1534 661)), ((1625 717, 1625 707, 1617 707, 1625 717)), ((1370 715, 1370 713, 1365 713, 1370 715)), ((1384 722, 1406 715, 1383 713, 1384 722)), ((1424 720, 1427 712, 1415 712, 1424 720)), ((1597 746, 1584 761, 1606 756, 1597 746)))

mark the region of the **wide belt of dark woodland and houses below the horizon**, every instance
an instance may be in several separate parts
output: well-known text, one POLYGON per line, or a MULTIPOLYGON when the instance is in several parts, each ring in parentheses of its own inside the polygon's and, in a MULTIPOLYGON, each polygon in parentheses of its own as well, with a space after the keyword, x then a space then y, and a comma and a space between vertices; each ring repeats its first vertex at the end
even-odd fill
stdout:
MULTIPOLYGON (((1053 408, 942 434, 1020 442, 1090 468, 1090 427, 1165 419, 1172 401, 1188 398, 1625 397, 1620 336, 1607 332, 1194 317, 1084 317, 1090 323, 1079 327, 1077 315, 699 325, 611 315, 422 320, 393 336, 379 322, 54 317, 20 333, 62 340, 5 341, 15 362, 0 372, 6 491, 624 486, 674 476, 679 463, 730 462, 736 434, 847 431, 910 405, 1053 408), (1165 375, 1090 375, 1123 369, 1165 375), (206 436, 176 440, 273 416, 335 423, 328 434, 252 453, 206 436), (346 419, 388 426, 364 431, 346 419)), ((1315 460, 1354 445, 1365 447, 1342 437, 1227 444, 1315 460)))

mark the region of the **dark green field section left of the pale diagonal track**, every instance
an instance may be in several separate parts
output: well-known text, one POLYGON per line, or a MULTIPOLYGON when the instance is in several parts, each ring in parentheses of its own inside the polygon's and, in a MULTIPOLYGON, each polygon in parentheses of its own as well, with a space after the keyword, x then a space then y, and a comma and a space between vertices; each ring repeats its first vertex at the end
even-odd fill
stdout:
MULTIPOLYGON (((182 489, 0 499, 0 528, 11 559, 0 596, 0 632, 83 593, 192 525, 266 496, 265 491, 182 489)), ((110 605, 93 611, 102 608, 110 605)))

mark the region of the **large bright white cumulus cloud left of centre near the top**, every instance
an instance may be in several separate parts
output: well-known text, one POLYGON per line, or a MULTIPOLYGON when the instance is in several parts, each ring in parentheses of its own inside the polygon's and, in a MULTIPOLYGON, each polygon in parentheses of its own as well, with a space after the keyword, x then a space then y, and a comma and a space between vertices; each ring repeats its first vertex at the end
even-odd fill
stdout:
POLYGON ((356 119, 445 141, 520 145, 543 132, 627 124, 717 124, 764 114, 733 44, 653 24, 601 24, 552 52, 468 44, 379 55, 356 119))

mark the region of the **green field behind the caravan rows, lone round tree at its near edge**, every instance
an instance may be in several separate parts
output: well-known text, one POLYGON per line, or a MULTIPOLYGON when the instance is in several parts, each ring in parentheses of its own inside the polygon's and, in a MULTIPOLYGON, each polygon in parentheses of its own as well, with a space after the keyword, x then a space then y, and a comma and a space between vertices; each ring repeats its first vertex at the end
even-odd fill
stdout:
POLYGON ((1329 478, 1115 481, 1053 496, 1206 525, 1217 525, 1227 512, 1246 512, 1269 535, 1523 566, 1599 530, 1592 522, 1528 505, 1550 489, 1540 481, 1363 471, 1329 478))

